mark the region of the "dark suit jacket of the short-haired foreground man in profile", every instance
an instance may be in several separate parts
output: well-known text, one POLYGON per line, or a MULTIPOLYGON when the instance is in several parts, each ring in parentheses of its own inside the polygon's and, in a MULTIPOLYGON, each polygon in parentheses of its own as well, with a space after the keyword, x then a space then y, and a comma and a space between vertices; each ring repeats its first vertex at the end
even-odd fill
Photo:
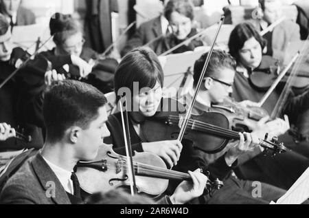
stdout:
POLYGON ((52 169, 37 154, 8 179, 0 194, 0 204, 71 204, 71 201, 52 169))

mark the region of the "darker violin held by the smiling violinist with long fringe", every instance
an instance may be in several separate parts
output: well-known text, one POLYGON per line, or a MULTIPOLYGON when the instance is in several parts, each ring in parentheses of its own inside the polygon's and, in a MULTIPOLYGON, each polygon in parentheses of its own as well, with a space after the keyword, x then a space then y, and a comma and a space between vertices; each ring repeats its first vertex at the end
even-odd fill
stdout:
MULTIPOLYGON (((185 111, 185 107, 179 106, 181 104, 175 101, 163 99, 161 109, 155 116, 148 118, 142 124, 141 128, 147 142, 177 139, 180 131, 179 126, 183 122, 181 115, 185 111), (178 106, 173 107, 174 105, 178 106), (178 110, 175 110, 175 108, 178 108, 178 110)), ((205 153, 218 153, 225 149, 229 140, 240 140, 239 133, 231 131, 230 120, 222 112, 205 112, 199 116, 191 116, 187 129, 185 129, 184 139, 193 142, 195 149, 205 153)), ((266 152, 272 151, 274 154, 287 151, 284 144, 279 143, 277 138, 268 141, 268 135, 263 140, 260 140, 260 146, 264 147, 266 152)))

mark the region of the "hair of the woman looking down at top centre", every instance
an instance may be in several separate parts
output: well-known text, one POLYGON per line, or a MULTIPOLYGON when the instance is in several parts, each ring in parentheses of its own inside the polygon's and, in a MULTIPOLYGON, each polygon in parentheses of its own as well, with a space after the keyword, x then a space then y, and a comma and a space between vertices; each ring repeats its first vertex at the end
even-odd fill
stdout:
POLYGON ((164 16, 170 21, 172 12, 179 12, 185 17, 194 19, 194 6, 190 0, 170 0, 165 6, 164 16))

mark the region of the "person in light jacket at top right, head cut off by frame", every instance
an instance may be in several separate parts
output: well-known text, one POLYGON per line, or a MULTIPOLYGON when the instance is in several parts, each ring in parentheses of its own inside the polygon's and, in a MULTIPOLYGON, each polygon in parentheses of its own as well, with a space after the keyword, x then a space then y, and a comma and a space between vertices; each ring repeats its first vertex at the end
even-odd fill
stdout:
MULTIPOLYGON (((252 21, 258 32, 266 29, 269 25, 284 16, 282 4, 281 0, 260 0, 262 19, 252 21)), ((264 39, 267 41, 265 54, 283 62, 286 52, 288 52, 286 50, 288 43, 300 40, 299 25, 287 18, 273 30, 267 32, 264 35, 264 39)))

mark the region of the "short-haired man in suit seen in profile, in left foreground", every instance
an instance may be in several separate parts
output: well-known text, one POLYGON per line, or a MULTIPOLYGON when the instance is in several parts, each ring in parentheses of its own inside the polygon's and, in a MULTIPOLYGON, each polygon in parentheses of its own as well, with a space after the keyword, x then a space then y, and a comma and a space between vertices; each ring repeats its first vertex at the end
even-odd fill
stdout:
MULTIPOLYGON (((43 105, 45 145, 8 179, 0 204, 82 204, 73 168, 80 160, 94 160, 110 134, 105 106, 104 94, 91 85, 73 80, 53 83, 43 105)), ((193 184, 183 182, 159 204, 184 204, 200 196, 207 177, 198 171, 190 175, 193 184)))

